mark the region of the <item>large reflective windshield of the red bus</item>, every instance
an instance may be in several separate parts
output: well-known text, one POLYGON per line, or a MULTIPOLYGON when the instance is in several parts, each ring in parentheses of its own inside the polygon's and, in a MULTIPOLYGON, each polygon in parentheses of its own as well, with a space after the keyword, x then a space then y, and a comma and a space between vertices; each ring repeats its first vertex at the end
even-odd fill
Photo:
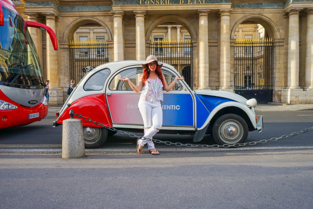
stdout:
POLYGON ((0 26, 0 85, 18 88, 44 88, 38 53, 25 21, 16 12, 2 7, 0 26))

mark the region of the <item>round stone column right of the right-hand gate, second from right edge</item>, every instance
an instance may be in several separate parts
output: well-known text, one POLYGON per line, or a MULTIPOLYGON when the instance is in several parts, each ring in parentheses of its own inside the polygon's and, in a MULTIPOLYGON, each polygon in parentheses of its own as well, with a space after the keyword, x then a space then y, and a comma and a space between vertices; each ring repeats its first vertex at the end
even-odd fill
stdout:
POLYGON ((289 11, 288 89, 299 89, 299 9, 289 11))

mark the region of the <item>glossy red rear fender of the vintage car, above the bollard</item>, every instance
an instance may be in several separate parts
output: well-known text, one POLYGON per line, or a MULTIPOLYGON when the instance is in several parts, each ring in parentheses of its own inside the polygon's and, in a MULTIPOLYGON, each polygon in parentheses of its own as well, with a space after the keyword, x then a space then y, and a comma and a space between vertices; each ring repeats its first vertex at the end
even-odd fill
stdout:
MULTIPOLYGON (((66 108, 62 115, 57 119, 56 123, 63 124, 63 120, 70 118, 70 110, 74 110, 74 113, 79 113, 81 116, 88 117, 93 121, 112 127, 109 109, 103 94, 93 94, 79 98, 66 108)), ((81 119, 84 127, 101 127, 95 123, 86 121, 84 118, 77 117, 76 115, 74 115, 74 118, 81 119)))

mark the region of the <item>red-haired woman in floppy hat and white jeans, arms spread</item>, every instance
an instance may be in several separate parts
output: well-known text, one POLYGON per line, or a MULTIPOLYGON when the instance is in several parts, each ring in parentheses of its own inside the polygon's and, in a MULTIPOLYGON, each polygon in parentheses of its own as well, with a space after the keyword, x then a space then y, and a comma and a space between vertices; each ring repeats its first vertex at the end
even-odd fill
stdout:
MULTIPOLYGON (((128 78, 119 78, 121 81, 129 83, 131 88, 139 93, 141 90, 138 108, 143 119, 145 127, 144 138, 152 138, 162 127, 163 113, 161 101, 163 101, 163 89, 170 91, 177 80, 184 78, 175 77, 170 85, 167 85, 165 76, 162 74, 161 67, 163 63, 158 62, 156 56, 149 55, 146 62, 142 64, 143 74, 140 76, 138 85, 133 84, 128 78)), ((143 146, 147 144, 151 154, 160 154, 154 147, 152 141, 139 139, 137 142, 137 153, 141 154, 143 146)))

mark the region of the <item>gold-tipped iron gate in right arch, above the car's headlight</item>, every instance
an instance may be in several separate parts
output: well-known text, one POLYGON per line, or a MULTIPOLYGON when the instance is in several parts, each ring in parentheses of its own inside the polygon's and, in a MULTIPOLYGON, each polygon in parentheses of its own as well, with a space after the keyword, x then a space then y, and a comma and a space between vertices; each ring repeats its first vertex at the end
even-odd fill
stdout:
POLYGON ((273 102, 274 46, 272 40, 234 43, 234 90, 247 99, 273 102))

